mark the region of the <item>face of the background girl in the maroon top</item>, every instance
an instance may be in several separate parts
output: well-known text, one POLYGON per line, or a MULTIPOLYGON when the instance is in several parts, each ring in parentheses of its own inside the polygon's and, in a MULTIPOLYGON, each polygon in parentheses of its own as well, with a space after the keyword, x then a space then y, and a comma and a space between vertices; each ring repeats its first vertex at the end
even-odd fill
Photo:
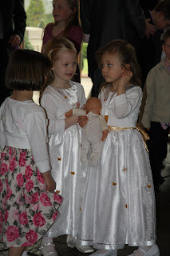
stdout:
POLYGON ((67 0, 53 0, 53 18, 55 22, 65 22, 72 10, 67 0))

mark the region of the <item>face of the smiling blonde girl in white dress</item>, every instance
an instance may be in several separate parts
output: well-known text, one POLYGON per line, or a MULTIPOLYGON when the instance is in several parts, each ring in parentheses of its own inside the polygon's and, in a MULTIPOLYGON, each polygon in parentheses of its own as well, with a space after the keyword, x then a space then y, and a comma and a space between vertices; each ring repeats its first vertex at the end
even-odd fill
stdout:
POLYGON ((77 54, 72 50, 61 50, 53 63, 54 77, 60 81, 69 81, 77 69, 77 54))

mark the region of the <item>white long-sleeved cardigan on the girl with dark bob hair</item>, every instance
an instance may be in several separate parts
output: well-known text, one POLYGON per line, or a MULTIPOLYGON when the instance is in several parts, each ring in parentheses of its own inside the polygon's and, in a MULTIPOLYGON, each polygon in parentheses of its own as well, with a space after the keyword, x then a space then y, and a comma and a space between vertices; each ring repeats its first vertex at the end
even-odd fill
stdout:
POLYGON ((45 111, 33 101, 6 98, 0 109, 0 146, 31 149, 40 172, 50 169, 45 111))

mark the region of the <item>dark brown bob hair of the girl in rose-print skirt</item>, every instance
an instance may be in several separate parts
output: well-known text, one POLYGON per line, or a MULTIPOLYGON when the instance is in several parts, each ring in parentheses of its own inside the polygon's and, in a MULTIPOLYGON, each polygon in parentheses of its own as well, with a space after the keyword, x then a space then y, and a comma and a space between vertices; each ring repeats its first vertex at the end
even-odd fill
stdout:
POLYGON ((6 69, 6 87, 10 90, 42 90, 51 68, 49 58, 34 50, 14 50, 6 69))

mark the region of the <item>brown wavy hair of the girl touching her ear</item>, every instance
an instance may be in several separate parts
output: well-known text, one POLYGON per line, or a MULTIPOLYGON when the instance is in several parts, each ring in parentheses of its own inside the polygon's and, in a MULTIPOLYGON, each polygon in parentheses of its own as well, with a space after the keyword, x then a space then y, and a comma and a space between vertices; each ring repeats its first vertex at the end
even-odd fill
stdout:
MULTIPOLYGON (((122 68, 125 68, 125 65, 130 65, 130 70, 132 71, 132 79, 130 82, 134 86, 141 86, 141 79, 140 79, 140 66, 136 60, 136 51, 134 47, 129 44, 128 42, 117 39, 109 42, 106 46, 102 47, 101 49, 97 50, 96 58, 101 69, 101 58, 102 55, 105 53, 109 54, 118 54, 121 60, 122 68)), ((101 85, 101 88, 104 86, 108 86, 109 82, 104 82, 101 85)))

